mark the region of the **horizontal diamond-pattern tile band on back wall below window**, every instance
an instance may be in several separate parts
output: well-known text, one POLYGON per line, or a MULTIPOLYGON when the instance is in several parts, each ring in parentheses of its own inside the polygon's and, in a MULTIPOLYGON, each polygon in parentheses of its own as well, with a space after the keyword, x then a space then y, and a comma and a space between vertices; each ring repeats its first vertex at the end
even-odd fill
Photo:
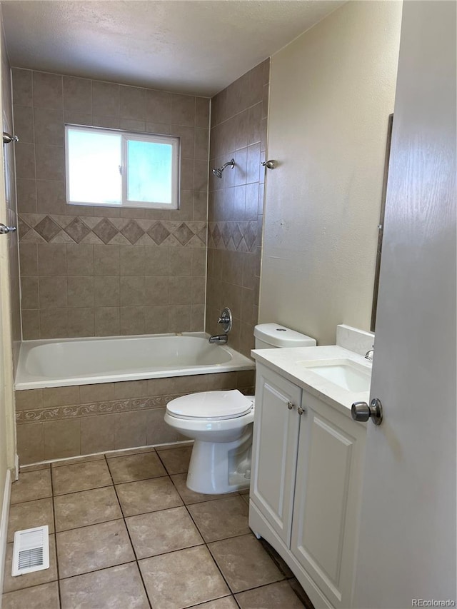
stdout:
MULTIPOLYGON (((23 243, 84 243, 89 245, 140 245, 203 248, 206 222, 132 220, 92 216, 19 214, 19 240, 23 243)), ((255 240, 255 230, 249 239, 255 240)))

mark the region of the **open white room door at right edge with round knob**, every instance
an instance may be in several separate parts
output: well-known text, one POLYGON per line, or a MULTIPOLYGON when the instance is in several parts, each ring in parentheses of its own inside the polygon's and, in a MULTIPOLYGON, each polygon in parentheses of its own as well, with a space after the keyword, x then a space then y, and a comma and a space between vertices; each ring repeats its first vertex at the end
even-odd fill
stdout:
POLYGON ((457 603, 455 181, 456 2, 406 1, 371 386, 385 418, 367 423, 358 609, 457 603))

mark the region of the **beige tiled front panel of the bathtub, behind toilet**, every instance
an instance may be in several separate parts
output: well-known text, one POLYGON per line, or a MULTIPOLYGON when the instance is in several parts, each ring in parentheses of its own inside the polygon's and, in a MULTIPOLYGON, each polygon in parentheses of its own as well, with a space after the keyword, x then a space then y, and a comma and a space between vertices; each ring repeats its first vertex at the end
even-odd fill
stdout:
POLYGON ((239 388, 253 371, 16 391, 21 465, 184 440, 164 422, 166 404, 194 391, 239 388))

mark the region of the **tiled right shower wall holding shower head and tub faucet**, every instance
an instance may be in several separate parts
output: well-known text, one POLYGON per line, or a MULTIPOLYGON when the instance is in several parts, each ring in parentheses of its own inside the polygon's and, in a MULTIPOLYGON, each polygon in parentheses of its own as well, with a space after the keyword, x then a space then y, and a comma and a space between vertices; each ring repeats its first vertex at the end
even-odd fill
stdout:
POLYGON ((267 59, 211 101, 210 166, 231 158, 236 166, 210 175, 206 329, 220 333, 216 322, 229 306, 229 344, 246 356, 258 319, 269 74, 267 59))

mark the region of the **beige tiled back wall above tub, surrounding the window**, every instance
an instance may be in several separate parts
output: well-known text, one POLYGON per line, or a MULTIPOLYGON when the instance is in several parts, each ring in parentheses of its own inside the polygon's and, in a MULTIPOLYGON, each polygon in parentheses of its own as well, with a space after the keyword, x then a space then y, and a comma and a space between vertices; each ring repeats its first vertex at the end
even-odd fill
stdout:
POLYGON ((209 99, 13 69, 24 339, 204 330, 209 99), (176 211, 71 206, 64 124, 181 138, 176 211))

